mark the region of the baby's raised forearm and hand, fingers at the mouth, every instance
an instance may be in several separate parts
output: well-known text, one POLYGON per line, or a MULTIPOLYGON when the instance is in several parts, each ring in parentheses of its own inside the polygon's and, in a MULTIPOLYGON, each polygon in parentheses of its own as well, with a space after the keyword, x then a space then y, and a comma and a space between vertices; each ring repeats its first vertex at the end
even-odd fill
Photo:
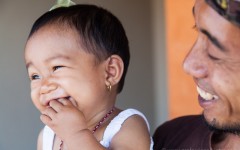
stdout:
POLYGON ((49 105, 41 120, 63 140, 67 149, 105 150, 88 130, 83 113, 69 100, 52 100, 49 105))

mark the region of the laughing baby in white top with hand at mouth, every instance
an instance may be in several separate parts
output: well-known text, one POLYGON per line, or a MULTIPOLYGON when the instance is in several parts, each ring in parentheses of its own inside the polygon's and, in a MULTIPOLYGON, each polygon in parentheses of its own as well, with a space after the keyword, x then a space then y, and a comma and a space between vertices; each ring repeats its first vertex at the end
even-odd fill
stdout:
POLYGON ((25 62, 46 124, 38 150, 152 149, 144 115, 115 107, 129 59, 122 24, 103 8, 60 7, 37 19, 25 62))

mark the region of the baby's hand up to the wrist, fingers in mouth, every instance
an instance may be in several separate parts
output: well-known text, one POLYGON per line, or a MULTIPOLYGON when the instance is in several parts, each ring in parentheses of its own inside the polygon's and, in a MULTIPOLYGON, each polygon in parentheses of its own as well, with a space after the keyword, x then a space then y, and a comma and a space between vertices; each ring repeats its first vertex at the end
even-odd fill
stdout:
POLYGON ((50 101, 49 107, 42 112, 40 119, 63 141, 87 129, 83 113, 67 99, 50 101))

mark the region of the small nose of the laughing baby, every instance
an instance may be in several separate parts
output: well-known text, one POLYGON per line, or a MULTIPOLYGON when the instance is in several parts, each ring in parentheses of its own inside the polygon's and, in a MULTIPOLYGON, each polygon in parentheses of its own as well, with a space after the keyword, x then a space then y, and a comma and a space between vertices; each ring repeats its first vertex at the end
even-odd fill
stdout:
POLYGON ((51 78, 47 78, 43 80, 40 93, 47 94, 56 90, 57 88, 58 88, 57 84, 51 78))

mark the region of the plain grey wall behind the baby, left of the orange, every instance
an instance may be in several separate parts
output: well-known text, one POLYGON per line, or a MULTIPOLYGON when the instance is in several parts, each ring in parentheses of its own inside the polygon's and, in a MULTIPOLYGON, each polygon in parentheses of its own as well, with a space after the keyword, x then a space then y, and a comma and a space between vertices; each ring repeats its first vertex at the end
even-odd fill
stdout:
MULTIPOLYGON (((118 106, 134 107, 145 113, 153 133, 167 116, 166 106, 158 107, 166 105, 164 37, 157 36, 160 32, 156 30, 163 31, 163 14, 159 9, 162 0, 75 2, 101 5, 122 21, 130 41, 131 63, 118 106), (161 45, 156 44, 158 40, 161 45)), ((36 149, 43 124, 30 99, 23 52, 33 22, 53 3, 53 0, 0 0, 0 150, 36 149)))

